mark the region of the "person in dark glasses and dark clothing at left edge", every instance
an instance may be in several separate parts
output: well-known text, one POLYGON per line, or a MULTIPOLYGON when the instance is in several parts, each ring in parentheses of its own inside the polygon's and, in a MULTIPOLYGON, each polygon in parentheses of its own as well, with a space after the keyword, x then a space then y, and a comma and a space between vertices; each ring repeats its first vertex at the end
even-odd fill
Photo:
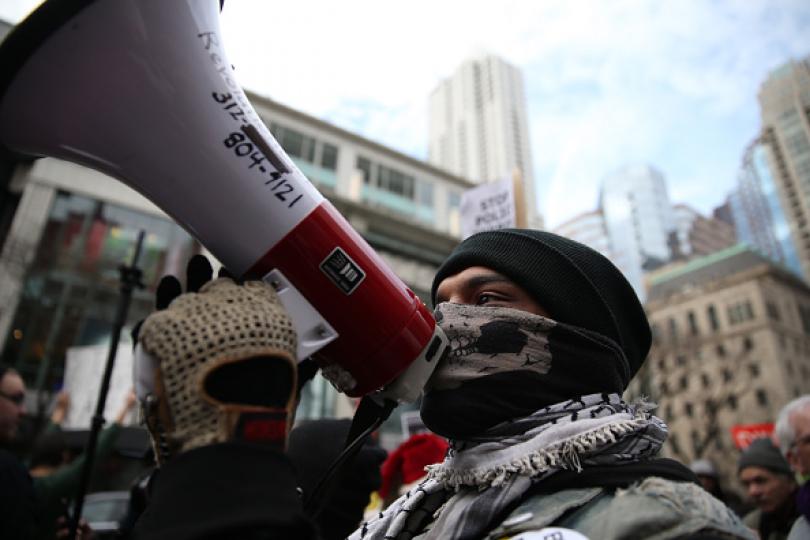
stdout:
POLYGON ((0 364, 0 538, 29 540, 35 525, 34 486, 25 465, 5 449, 17 436, 25 410, 25 383, 0 364))

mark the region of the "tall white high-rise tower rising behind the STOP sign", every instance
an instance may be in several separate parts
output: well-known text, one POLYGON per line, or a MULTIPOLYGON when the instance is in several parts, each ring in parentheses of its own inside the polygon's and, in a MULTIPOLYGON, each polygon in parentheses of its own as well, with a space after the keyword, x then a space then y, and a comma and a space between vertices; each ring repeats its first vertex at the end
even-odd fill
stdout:
POLYGON ((475 183, 523 178, 529 226, 537 211, 523 76, 493 55, 469 59, 430 96, 428 161, 475 183))

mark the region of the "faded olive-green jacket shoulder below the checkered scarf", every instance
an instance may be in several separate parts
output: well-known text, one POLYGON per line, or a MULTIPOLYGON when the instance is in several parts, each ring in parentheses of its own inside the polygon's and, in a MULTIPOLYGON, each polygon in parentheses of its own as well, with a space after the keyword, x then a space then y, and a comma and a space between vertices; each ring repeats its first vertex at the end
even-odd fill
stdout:
POLYGON ((653 476, 627 489, 586 487, 532 496, 488 540, 544 527, 572 529, 592 540, 669 540, 699 531, 717 538, 756 538, 734 512, 699 486, 653 476))

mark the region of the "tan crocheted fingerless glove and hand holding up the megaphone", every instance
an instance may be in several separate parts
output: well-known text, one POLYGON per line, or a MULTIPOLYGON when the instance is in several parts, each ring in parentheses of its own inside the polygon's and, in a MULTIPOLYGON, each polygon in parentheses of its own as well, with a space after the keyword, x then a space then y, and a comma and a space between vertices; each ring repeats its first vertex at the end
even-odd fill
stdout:
POLYGON ((158 463, 200 446, 249 441, 283 448, 296 404, 296 335, 275 290, 189 263, 188 288, 164 278, 138 331, 136 392, 158 463), (207 283, 206 283, 207 282, 207 283))

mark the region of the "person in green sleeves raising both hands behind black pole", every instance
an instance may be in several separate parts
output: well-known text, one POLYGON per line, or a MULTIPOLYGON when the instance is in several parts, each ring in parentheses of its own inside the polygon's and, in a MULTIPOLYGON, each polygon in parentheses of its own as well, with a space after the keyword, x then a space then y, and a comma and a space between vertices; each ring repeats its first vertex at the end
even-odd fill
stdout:
MULTIPOLYGON (((96 465, 112 454, 121 426, 135 403, 135 394, 128 392, 112 424, 99 433, 95 451, 96 465)), ((61 429, 69 406, 70 396, 66 392, 60 393, 51 414, 50 425, 34 443, 29 469, 34 479, 37 499, 37 531, 32 538, 54 538, 58 530, 57 521, 60 516, 67 515, 68 502, 76 495, 81 481, 85 456, 81 454, 73 460, 69 459, 67 443, 61 429)))

